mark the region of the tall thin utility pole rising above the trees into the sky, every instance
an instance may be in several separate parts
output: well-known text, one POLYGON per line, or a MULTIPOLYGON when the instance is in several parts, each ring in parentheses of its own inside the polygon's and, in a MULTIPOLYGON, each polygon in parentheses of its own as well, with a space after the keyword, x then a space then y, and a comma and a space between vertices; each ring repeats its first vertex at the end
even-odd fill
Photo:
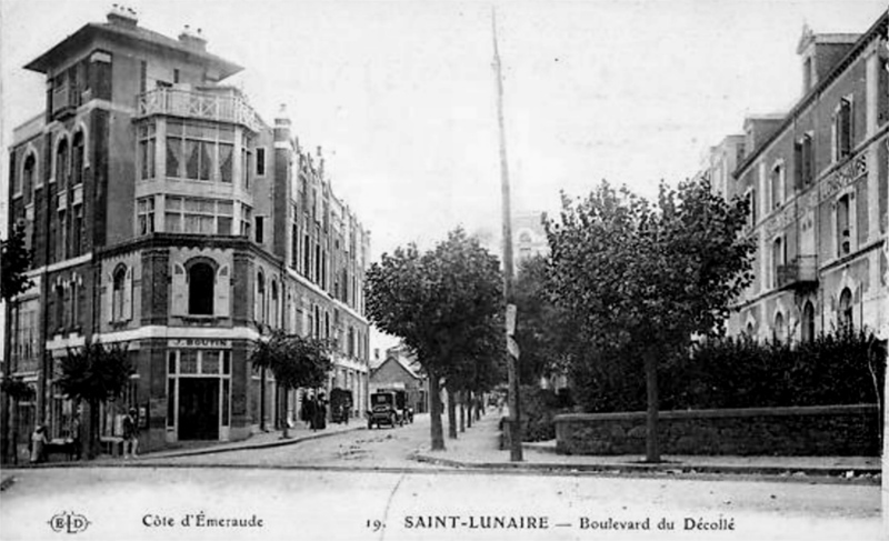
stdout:
MULTIPOLYGON (((515 314, 509 315, 512 305, 512 210, 509 202, 509 167, 507 164, 507 134, 503 128, 503 76, 500 70, 500 51, 497 48, 497 12, 491 10, 491 28, 493 33, 493 70, 497 77, 497 123, 500 127, 500 184, 503 196, 503 298, 507 304, 507 371, 509 372, 509 457, 512 462, 521 462, 521 415, 519 411, 519 352, 512 340, 515 314), (513 327, 513 328, 510 328, 513 327)), ((515 310, 515 309, 512 309, 515 310)))

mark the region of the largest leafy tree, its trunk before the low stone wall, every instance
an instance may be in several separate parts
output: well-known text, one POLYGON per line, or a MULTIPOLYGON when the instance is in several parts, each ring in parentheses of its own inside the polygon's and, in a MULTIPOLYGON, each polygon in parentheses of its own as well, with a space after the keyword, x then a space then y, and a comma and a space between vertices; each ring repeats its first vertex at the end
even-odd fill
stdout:
POLYGON ((752 279, 746 201, 726 202, 707 181, 661 183, 657 203, 602 182, 549 221, 550 292, 581 324, 591 351, 640 359, 646 374, 646 460, 658 449, 658 362, 693 335, 725 331, 730 303, 752 279))

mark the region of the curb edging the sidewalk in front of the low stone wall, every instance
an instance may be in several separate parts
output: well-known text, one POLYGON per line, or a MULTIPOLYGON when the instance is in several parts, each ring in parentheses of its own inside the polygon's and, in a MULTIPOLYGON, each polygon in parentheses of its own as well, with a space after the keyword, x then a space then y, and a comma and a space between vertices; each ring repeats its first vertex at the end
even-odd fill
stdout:
POLYGON ((528 470, 528 471, 568 471, 568 472, 661 472, 668 474, 688 473, 726 473, 726 474, 750 474, 750 475, 772 475, 780 478, 800 477, 856 477, 878 475, 881 473, 879 467, 862 468, 786 468, 773 465, 693 465, 693 464, 633 464, 633 463, 606 463, 606 464, 578 464, 578 463, 529 463, 529 462, 461 462, 453 459, 430 457, 423 453, 414 453, 411 457, 418 462, 448 465, 451 468, 486 469, 486 470, 528 470), (849 473, 851 472, 851 475, 849 473))

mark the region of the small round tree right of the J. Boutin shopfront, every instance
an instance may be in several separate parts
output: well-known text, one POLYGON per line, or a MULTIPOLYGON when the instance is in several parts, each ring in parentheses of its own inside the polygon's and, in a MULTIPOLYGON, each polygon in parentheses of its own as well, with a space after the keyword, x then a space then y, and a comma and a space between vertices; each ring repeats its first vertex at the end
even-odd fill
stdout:
MULTIPOLYGON (((298 388, 317 388, 324 384, 333 363, 326 340, 287 334, 276 329, 267 338, 253 341, 250 362, 254 369, 271 371, 274 383, 284 392, 298 388)), ((290 438, 287 412, 280 412, 282 438, 290 438)))

